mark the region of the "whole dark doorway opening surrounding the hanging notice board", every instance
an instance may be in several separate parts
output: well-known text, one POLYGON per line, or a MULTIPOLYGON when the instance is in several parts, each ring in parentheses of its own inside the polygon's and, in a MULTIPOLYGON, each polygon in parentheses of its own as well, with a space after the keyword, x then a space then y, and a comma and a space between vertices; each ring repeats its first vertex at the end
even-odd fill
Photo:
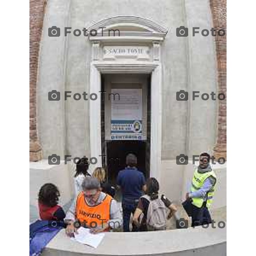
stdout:
MULTIPOLYGON (((124 74, 111 75, 112 78, 124 76, 124 74)), ((128 77, 134 77, 134 74, 125 74, 128 77)), ((141 76, 141 75, 140 75, 141 76)), ((112 88, 112 80, 111 80, 111 88, 109 88, 109 76, 102 75, 102 91, 111 92, 112 88)), ((138 169, 144 173, 145 178, 148 178, 150 175, 150 141, 151 141, 151 76, 144 76, 143 84, 146 86, 143 87, 143 93, 146 92, 146 96, 143 98, 143 109, 144 112, 144 121, 143 125, 146 127, 146 138, 144 140, 111 140, 110 137, 110 122, 109 116, 111 116, 110 108, 106 111, 108 105, 108 101, 104 100, 103 93, 101 95, 101 141, 102 141, 102 155, 106 157, 102 158, 102 166, 106 169, 107 180, 112 185, 116 184, 116 177, 118 172, 122 169, 125 169, 125 157, 129 153, 133 153, 137 156, 137 165, 138 169), (145 118, 146 117, 146 118, 145 118)), ((113 79, 114 80, 114 79, 113 79)), ((120 82, 120 84, 124 83, 132 84, 132 82, 127 82, 124 80, 120 82)), ((136 82, 136 84, 140 84, 136 82)), ((118 83, 117 88, 120 87, 118 83)), ((114 87, 114 88, 116 88, 114 87)), ((124 88, 128 88, 125 86, 124 88)), ((137 88, 137 87, 136 87, 137 88)), ((145 94, 143 94, 145 95, 145 94)))

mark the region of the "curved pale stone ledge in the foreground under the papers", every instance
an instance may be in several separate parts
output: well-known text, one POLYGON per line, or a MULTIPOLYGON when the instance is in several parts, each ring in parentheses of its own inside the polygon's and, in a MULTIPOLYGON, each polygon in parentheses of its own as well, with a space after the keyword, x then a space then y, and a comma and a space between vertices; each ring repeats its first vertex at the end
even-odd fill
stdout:
POLYGON ((226 255, 226 227, 216 226, 155 232, 105 233, 98 248, 72 241, 61 230, 43 251, 43 256, 71 255, 226 255))

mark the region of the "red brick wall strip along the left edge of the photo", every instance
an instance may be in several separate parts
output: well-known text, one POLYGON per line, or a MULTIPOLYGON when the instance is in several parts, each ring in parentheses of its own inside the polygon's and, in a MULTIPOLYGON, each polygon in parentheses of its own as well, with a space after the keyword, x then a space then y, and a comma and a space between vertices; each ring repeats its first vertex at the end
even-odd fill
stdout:
POLYGON ((29 160, 42 158, 36 125, 36 83, 38 54, 46 0, 29 0, 29 160))

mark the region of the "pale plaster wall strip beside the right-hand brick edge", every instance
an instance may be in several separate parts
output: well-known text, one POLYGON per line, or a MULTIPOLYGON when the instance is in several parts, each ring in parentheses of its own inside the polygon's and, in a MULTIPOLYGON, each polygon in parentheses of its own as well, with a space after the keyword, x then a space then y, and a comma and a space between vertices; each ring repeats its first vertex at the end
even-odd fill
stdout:
POLYGON ((188 56, 188 131, 186 154, 189 158, 201 151, 212 153, 217 134, 217 66, 214 37, 201 35, 202 29, 213 27, 208 0, 185 0, 188 56), (200 27, 199 34, 192 36, 192 28, 200 27), (192 91, 200 91, 199 98, 192 100, 192 91), (201 99, 203 93, 216 93, 213 101, 201 99))

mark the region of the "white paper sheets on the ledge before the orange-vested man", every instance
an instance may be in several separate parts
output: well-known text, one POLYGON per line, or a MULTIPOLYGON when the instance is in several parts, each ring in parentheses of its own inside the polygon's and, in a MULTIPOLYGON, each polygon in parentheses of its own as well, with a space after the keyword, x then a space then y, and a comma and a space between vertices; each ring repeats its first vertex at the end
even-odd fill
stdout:
POLYGON ((97 248, 105 236, 104 233, 91 234, 90 229, 84 227, 80 227, 77 232, 78 234, 74 233, 75 237, 71 239, 82 244, 90 245, 93 248, 97 248))

